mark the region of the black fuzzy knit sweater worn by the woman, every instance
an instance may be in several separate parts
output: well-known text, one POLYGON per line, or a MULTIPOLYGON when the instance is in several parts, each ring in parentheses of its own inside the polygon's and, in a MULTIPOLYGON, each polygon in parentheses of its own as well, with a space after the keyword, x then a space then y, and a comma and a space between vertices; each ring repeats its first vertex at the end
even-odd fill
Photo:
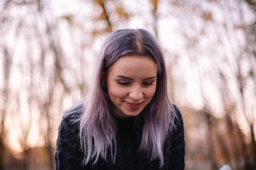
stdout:
MULTIPOLYGON (((164 166, 162 169, 184 169, 184 127, 182 116, 175 107, 178 118, 175 120, 176 129, 164 141, 164 166)), ((79 114, 79 113, 78 113, 79 114)), ((147 153, 139 151, 140 137, 135 128, 135 118, 116 120, 116 159, 115 164, 109 158, 98 159, 95 164, 83 165, 84 153, 79 141, 79 123, 72 121, 72 116, 64 117, 59 127, 57 148, 55 153, 56 169, 95 169, 95 170, 140 170, 159 169, 159 160, 148 159, 147 153)))

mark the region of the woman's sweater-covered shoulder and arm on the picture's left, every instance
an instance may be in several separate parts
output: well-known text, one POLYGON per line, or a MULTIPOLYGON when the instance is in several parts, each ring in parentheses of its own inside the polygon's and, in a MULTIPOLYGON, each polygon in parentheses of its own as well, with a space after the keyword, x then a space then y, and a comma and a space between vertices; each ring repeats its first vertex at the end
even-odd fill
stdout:
POLYGON ((79 117, 82 108, 83 104, 74 104, 64 111, 56 141, 56 169, 81 169, 79 166, 83 160, 83 152, 79 139, 79 117))

